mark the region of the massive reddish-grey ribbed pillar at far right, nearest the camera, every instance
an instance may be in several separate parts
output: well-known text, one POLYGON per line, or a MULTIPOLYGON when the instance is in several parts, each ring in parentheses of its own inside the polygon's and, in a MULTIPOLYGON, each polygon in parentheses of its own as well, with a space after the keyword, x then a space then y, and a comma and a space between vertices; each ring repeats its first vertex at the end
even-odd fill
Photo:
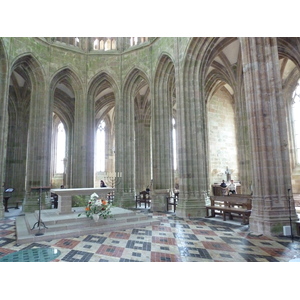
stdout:
POLYGON ((276 38, 241 38, 251 140, 253 202, 250 230, 282 233, 297 220, 291 189, 286 106, 276 38))

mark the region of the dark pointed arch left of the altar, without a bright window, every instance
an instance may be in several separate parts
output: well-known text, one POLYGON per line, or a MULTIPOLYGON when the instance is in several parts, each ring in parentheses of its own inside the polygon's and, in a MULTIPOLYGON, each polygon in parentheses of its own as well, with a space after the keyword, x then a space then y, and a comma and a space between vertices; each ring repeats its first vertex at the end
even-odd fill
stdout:
MULTIPOLYGON (((7 169, 15 185, 14 196, 23 198, 25 190, 50 182, 50 110, 44 97, 45 72, 32 53, 14 59, 10 79, 9 101, 16 111, 9 116, 7 169)), ((30 196, 25 198, 25 211, 30 201, 30 196)))

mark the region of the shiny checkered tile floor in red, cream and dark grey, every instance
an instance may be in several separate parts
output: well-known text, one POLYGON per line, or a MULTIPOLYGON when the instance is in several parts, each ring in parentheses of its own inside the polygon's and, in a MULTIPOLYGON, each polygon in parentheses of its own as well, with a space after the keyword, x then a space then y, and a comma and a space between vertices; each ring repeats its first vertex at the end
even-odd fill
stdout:
POLYGON ((24 249, 52 247, 54 262, 288 262, 300 258, 295 237, 252 236, 239 222, 183 220, 151 213, 156 226, 17 245, 15 217, 0 220, 0 258, 24 249))

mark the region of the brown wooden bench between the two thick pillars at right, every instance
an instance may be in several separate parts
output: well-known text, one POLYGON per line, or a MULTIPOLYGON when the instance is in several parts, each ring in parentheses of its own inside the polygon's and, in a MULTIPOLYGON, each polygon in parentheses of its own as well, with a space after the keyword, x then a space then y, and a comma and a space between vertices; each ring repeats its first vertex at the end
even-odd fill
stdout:
POLYGON ((210 205, 206 206, 206 218, 221 215, 223 221, 229 216, 242 218, 242 225, 249 224, 252 210, 252 199, 250 195, 211 196, 210 205), (209 214, 211 212, 211 214, 209 214))

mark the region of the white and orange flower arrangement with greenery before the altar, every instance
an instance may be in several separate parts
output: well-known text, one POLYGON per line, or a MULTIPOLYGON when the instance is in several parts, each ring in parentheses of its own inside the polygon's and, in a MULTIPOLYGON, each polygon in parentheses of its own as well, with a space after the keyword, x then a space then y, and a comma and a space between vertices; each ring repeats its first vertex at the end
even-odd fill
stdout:
MULTIPOLYGON (((91 219, 93 219, 94 215, 98 215, 103 219, 106 219, 108 217, 111 218, 111 204, 108 203, 107 200, 99 198, 99 196, 96 193, 94 193, 91 195, 85 207, 85 214, 88 218, 91 219)), ((78 217, 80 215, 81 214, 78 214, 78 217)))

